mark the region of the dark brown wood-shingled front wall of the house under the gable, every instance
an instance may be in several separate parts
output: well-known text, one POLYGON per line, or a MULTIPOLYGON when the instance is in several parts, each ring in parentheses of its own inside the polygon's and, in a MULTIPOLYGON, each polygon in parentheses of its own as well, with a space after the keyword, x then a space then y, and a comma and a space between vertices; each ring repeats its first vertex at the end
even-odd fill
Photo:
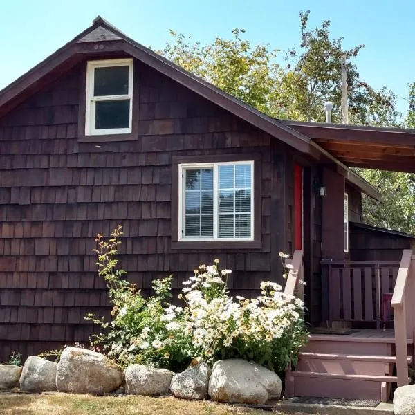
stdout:
POLYGON ((108 315, 93 238, 118 224, 122 267, 145 292, 174 273, 177 293, 195 266, 216 257, 234 270, 234 293, 280 278, 284 146, 270 151, 266 133, 147 66, 135 69, 137 140, 77 142, 81 66, 0 120, 0 361, 13 350, 26 356, 88 340, 85 313, 108 315), (172 156, 241 153, 261 160, 262 248, 173 250, 172 156))

